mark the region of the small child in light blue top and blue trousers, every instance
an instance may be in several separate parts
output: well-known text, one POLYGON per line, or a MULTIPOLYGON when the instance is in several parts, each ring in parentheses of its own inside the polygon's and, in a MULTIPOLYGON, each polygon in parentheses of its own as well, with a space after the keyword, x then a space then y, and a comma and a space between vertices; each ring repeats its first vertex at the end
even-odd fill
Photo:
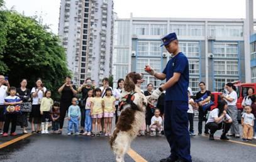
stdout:
POLYGON ((78 104, 78 100, 77 98, 73 98, 72 99, 72 105, 70 105, 69 107, 69 112, 67 113, 67 116, 69 117, 69 126, 67 129, 67 135, 71 135, 72 132, 72 128, 73 125, 75 127, 75 135, 79 135, 79 131, 78 131, 78 122, 81 118, 81 111, 80 111, 80 107, 77 105, 78 104))

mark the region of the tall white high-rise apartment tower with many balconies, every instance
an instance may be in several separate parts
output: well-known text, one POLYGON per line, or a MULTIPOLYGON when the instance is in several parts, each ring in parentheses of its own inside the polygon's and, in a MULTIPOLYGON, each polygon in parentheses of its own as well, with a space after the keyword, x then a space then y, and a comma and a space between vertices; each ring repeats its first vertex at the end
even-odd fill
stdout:
POLYGON ((75 85, 111 74, 113 22, 113 0, 61 1, 58 35, 75 85))

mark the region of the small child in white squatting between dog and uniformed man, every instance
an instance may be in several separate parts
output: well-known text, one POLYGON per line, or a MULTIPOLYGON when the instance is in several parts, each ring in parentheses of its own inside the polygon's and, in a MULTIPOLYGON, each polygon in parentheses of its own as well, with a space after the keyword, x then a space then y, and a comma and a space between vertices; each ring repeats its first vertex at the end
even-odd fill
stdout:
POLYGON ((163 129, 163 126, 162 126, 162 117, 160 117, 160 110, 155 109, 154 116, 151 118, 150 136, 155 136, 155 134, 157 134, 157 136, 161 136, 162 129, 163 129), (155 133, 156 131, 157 133, 155 133))

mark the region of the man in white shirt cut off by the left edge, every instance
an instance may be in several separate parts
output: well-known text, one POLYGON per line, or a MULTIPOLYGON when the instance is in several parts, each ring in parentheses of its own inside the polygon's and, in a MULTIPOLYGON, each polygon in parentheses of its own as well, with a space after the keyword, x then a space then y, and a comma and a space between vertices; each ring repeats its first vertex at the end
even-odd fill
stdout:
POLYGON ((3 134, 3 125, 4 125, 4 99, 7 97, 8 90, 9 90, 9 82, 8 80, 4 79, 3 75, 0 75, 0 135, 3 134), (5 84, 5 85, 4 85, 5 84))

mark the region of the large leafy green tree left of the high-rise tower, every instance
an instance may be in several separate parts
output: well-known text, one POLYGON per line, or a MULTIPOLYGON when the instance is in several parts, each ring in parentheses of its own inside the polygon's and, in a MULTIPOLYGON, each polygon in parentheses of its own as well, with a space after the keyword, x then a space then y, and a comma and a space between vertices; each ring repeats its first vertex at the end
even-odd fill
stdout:
POLYGON ((47 26, 16 11, 8 11, 8 26, 4 57, 11 85, 18 86, 21 78, 27 78, 29 87, 35 86, 40 77, 53 97, 64 82, 67 69, 65 50, 56 35, 47 31, 47 26))

